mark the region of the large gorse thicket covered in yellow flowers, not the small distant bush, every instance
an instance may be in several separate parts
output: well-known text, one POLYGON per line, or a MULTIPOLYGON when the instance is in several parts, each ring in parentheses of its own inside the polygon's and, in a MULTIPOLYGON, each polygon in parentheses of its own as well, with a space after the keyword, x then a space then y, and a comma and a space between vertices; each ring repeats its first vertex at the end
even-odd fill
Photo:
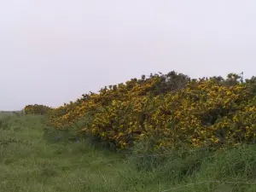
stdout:
POLYGON ((76 127, 116 148, 150 141, 150 150, 253 143, 256 78, 190 79, 182 73, 151 74, 110 85, 99 93, 47 110, 48 125, 76 127), (78 125, 81 119, 90 119, 78 125))

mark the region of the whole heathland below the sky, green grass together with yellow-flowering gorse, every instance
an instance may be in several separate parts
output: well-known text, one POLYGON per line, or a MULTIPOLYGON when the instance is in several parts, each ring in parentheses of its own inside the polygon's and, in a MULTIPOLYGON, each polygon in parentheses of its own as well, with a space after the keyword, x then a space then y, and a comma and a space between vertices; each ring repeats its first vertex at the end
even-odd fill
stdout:
POLYGON ((256 191, 256 78, 151 74, 0 120, 3 191, 256 191))

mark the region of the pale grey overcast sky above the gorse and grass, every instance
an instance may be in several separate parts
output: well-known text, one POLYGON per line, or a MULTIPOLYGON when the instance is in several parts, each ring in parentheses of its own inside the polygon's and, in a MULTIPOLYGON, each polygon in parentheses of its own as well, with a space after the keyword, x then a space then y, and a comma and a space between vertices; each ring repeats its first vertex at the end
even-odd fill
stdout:
POLYGON ((0 110, 175 70, 256 75, 255 0, 0 0, 0 110))

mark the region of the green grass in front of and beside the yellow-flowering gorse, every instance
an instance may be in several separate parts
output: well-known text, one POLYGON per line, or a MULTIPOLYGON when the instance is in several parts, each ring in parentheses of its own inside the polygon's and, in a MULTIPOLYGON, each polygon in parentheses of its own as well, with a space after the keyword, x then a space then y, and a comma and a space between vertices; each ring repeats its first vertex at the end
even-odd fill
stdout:
POLYGON ((44 117, 0 114, 0 191, 256 191, 255 145, 125 158, 56 137, 45 133, 44 117))

